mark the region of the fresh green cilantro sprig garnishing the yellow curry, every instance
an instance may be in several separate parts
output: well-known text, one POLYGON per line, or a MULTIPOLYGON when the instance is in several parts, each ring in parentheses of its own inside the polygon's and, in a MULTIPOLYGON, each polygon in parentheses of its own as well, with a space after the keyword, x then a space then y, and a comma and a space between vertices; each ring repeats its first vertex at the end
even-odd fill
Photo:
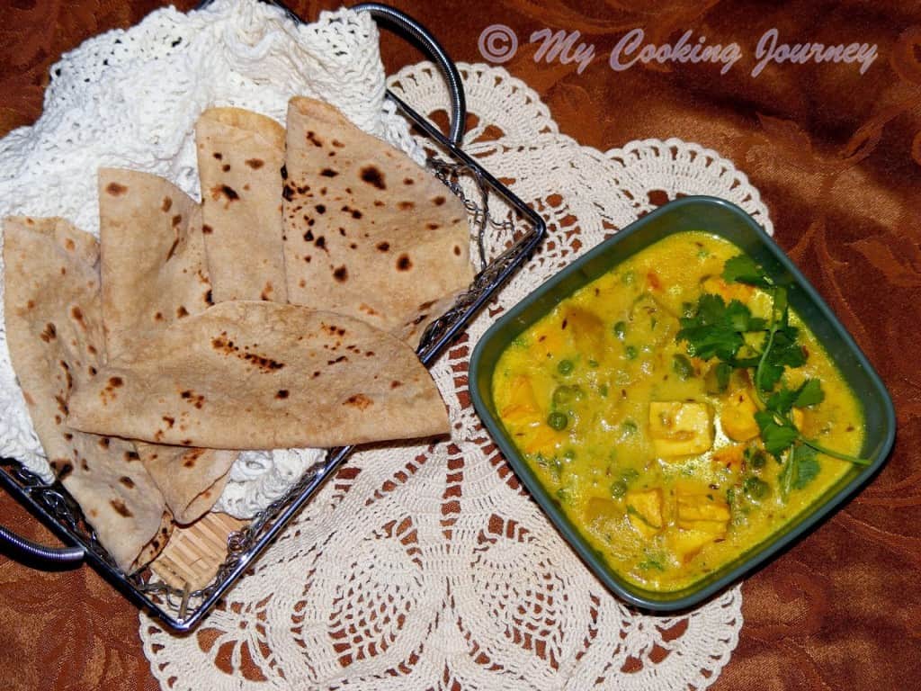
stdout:
MULTIPOLYGON (((869 461, 840 451, 827 449, 815 439, 806 438, 793 420, 794 407, 805 408, 822 403, 822 382, 807 379, 797 389, 781 382, 787 368, 806 363, 806 350, 799 342, 799 329, 790 324, 787 289, 777 286, 761 266, 746 255, 729 259, 723 266, 723 280, 763 289, 771 298, 771 316, 764 320, 740 300, 727 302, 719 295, 703 294, 696 307, 680 320, 676 335, 686 344, 688 355, 704 360, 717 358, 717 378, 728 381, 732 369, 754 369, 754 392, 759 405, 755 414, 764 450, 781 463, 779 477, 783 497, 800 489, 819 473, 817 453, 867 465, 869 461), (760 340, 760 346, 752 345, 760 340), (786 459, 786 461, 785 461, 786 459)), ((725 388, 725 386, 721 387, 725 388)))

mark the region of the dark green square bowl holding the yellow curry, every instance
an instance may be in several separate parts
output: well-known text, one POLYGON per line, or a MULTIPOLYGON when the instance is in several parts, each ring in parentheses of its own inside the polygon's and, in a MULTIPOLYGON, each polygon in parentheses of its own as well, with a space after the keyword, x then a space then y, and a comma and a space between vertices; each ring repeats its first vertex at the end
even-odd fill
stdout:
POLYGON ((692 607, 764 564, 807 533, 834 509, 839 508, 860 486, 863 486, 880 469, 882 463, 885 463, 895 438, 895 414, 889 392, 870 366, 867 357, 845 331, 841 322, 835 318, 815 288, 810 286, 806 278, 799 273, 799 269, 752 217, 738 206, 722 199, 705 196, 684 197, 661 206, 624 228, 610 240, 601 242, 598 247, 566 266, 508 310, 484 334, 473 350, 470 390, 477 413, 499 449, 505 454, 508 463, 577 554, 608 588, 627 603, 652 611, 664 612, 692 607), (500 421, 492 397, 492 382, 495 365, 507 345, 531 324, 553 310, 558 302, 578 288, 608 273, 613 267, 648 245, 686 230, 705 230, 729 240, 761 264, 778 285, 787 287, 790 305, 824 345, 829 357, 841 370, 863 406, 867 431, 860 455, 869 458, 871 463, 867 466, 855 465, 810 505, 810 509, 804 510, 779 532, 758 545, 752 545, 747 552, 718 568, 705 579, 698 580, 680 591, 659 592, 639 588, 614 573, 600 553, 589 545, 565 516, 556 499, 546 491, 537 475, 530 470, 500 421))

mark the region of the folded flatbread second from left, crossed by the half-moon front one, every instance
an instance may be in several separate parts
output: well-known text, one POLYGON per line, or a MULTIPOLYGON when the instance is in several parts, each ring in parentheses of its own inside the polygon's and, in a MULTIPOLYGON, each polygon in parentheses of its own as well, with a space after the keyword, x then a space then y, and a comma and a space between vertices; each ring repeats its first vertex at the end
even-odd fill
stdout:
MULTIPOLYGON (((171 182, 133 170, 99 170, 99 235, 110 358, 210 304, 202 211, 171 182)), ((138 444, 137 452, 180 523, 211 509, 237 457, 149 444, 138 444)))

